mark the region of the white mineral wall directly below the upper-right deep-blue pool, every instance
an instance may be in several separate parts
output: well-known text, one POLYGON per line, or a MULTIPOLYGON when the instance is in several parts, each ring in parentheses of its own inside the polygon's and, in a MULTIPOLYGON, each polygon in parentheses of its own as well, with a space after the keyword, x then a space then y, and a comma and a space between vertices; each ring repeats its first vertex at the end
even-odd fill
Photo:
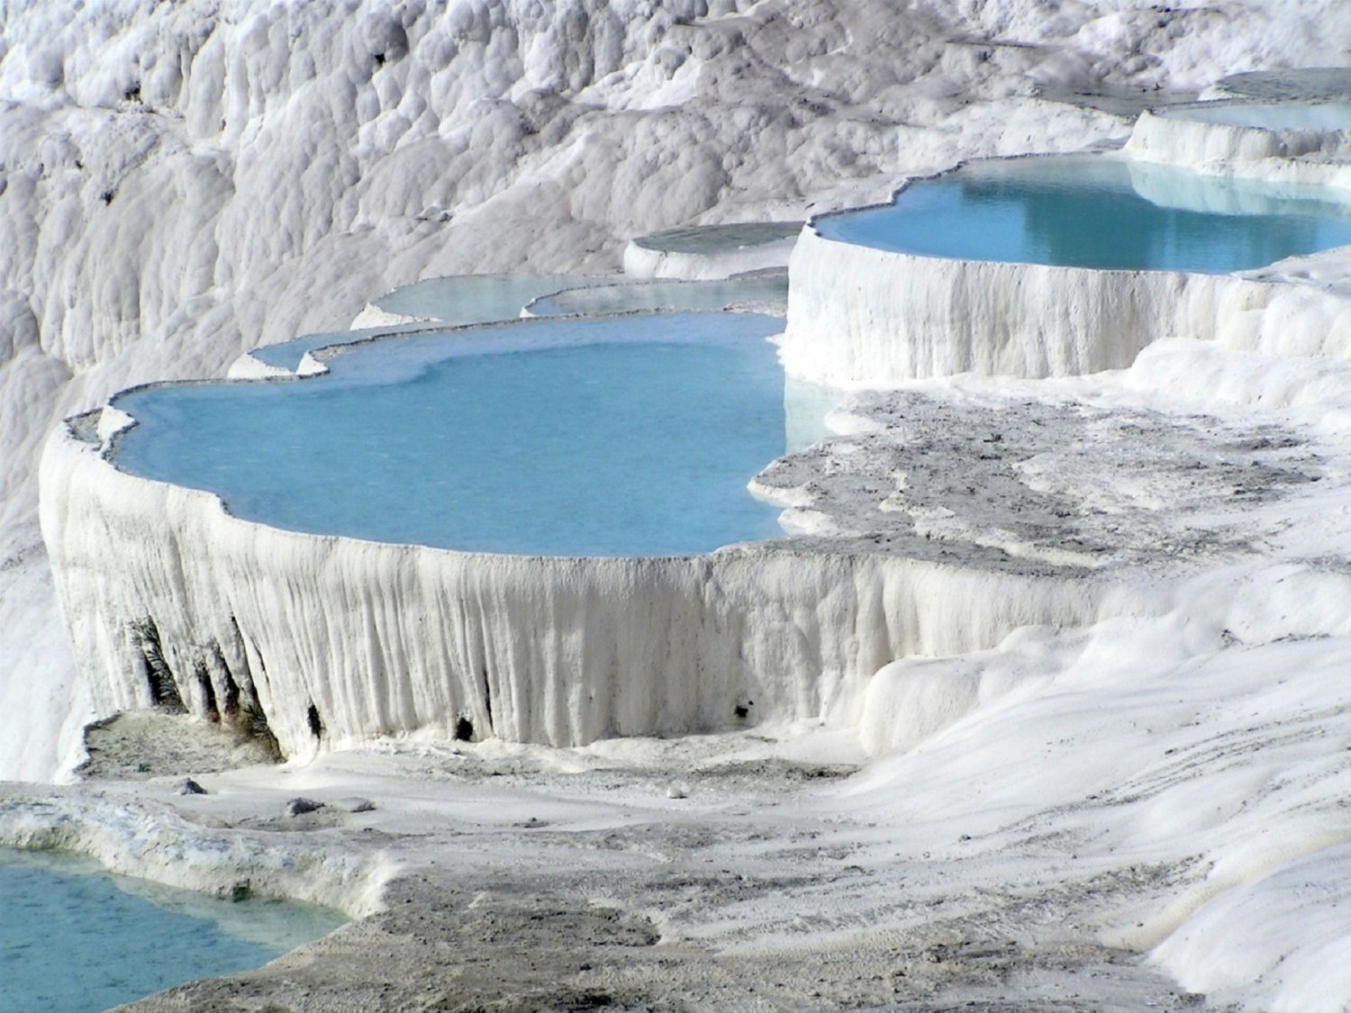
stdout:
POLYGON ((789 263, 781 355, 802 380, 877 386, 1121 369, 1158 338, 1346 358, 1351 298, 1223 274, 917 257, 825 239, 809 224, 789 263))

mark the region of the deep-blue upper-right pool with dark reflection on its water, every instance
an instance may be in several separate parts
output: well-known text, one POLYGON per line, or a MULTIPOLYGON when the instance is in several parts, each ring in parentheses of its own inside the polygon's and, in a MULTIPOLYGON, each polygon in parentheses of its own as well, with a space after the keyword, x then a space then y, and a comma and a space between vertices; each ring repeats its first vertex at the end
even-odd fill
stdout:
POLYGON ((1351 194, 1056 155, 975 162, 816 230, 924 257, 1223 274, 1351 243, 1351 194))

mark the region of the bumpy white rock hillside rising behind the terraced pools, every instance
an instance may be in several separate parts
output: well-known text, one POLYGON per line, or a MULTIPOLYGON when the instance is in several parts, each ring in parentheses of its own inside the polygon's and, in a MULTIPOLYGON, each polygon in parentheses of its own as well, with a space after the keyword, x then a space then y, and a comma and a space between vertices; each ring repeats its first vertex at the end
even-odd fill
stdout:
POLYGON ((69 769, 78 743, 50 704, 86 712, 35 523, 62 416, 219 374, 419 277, 609 265, 654 228, 800 216, 965 157, 1120 136, 1025 96, 1333 62, 1337 9, 7 4, 0 771, 69 769))

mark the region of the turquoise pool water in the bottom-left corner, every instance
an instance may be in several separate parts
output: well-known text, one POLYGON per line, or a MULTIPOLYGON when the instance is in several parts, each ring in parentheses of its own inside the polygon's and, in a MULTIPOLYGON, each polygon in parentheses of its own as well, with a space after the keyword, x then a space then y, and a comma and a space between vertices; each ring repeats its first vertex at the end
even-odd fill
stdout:
POLYGON ((0 848, 0 1010, 103 1010, 259 967, 345 921, 323 908, 231 904, 0 848))

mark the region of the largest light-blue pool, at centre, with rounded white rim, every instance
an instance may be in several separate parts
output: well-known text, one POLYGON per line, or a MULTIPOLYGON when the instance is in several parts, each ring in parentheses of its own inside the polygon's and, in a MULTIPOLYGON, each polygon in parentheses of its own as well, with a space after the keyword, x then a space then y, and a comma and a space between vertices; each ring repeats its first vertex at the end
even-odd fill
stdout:
POLYGON ((746 484, 784 452, 784 374, 742 313, 549 320, 349 350, 304 381, 120 394, 116 465, 312 534, 528 555, 777 538, 746 484))

